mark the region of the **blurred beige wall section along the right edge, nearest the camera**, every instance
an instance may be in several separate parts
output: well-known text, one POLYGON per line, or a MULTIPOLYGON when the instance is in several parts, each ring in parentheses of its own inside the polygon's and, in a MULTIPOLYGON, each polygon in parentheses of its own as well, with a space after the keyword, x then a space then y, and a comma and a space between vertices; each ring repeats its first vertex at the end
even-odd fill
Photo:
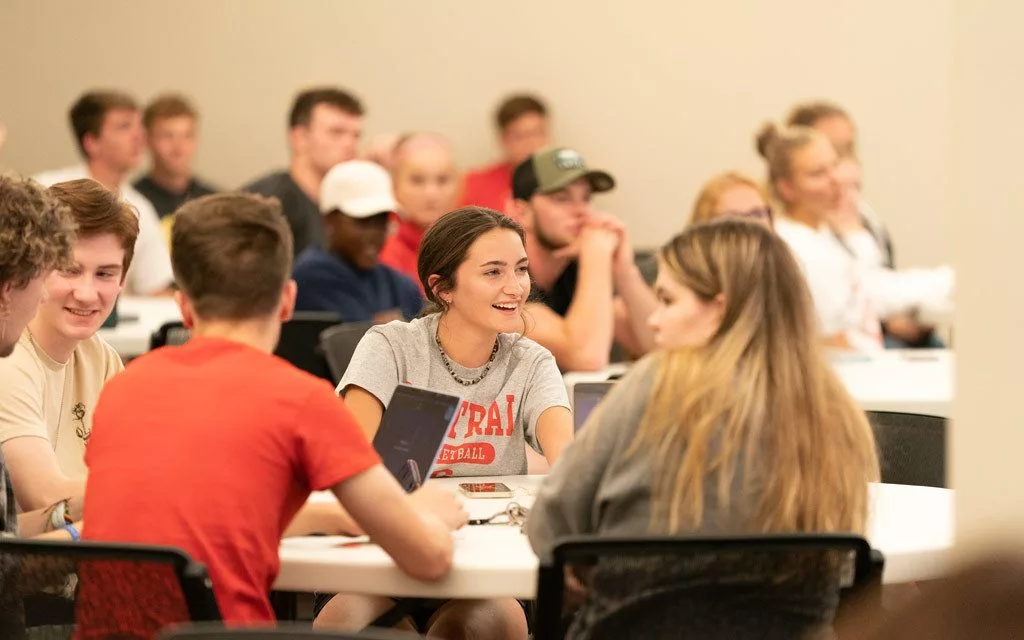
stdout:
POLYGON ((949 441, 967 551, 1024 531, 1024 52, 1017 2, 957 0, 952 74, 956 403, 949 441))

